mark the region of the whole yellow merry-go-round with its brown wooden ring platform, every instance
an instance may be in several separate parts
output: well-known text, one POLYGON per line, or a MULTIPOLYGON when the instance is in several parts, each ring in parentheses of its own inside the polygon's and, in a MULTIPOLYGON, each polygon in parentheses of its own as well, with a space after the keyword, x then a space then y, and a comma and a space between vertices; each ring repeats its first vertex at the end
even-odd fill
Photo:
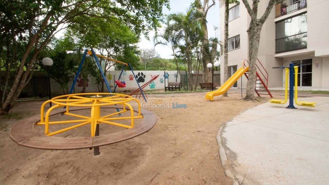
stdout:
POLYGON ((99 146, 110 145, 131 139, 149 131, 156 123, 156 117, 153 113, 140 108, 139 101, 129 95, 118 93, 78 93, 57 96, 51 100, 45 101, 41 106, 40 115, 32 116, 28 119, 16 123, 11 131, 10 137, 18 145, 27 146, 38 149, 49 150, 70 150, 82 148, 94 148, 94 155, 99 154, 99 146), (89 96, 89 97, 86 97, 89 96), (138 107, 132 107, 129 102, 136 101, 138 107), (49 102, 55 104, 44 114, 45 105, 49 102), (114 105, 117 106, 114 106, 114 105), (65 110, 57 109, 66 107, 65 110), (71 109, 71 107, 77 107, 71 109), (122 109, 119 112, 101 117, 101 110, 105 108, 122 109), (78 110, 90 109, 90 117, 86 115, 73 114, 78 110), (114 117, 120 113, 130 111, 130 116, 114 117), (137 115, 134 115, 134 112, 137 115), (56 114, 65 114, 72 117, 78 117, 77 120, 50 121, 50 117, 56 114), (113 122, 113 120, 129 120, 128 124, 113 122), (135 119, 143 119, 139 124, 135 125, 135 119), (50 132, 52 124, 79 123, 67 128, 50 132), (128 128, 126 130, 113 134, 99 136, 99 124, 107 123, 115 126, 128 128), (90 136, 80 138, 54 137, 54 135, 77 128, 86 124, 90 124, 90 136), (44 134, 35 130, 35 125, 44 125, 44 134))

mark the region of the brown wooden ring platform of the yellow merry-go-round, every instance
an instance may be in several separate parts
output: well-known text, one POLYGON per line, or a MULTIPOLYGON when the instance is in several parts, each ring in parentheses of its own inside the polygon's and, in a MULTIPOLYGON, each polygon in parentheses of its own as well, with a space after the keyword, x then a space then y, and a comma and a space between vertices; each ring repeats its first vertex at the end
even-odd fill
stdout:
MULTIPOLYGON (((122 109, 119 106, 104 106, 102 109, 122 109)), ((76 108, 70 111, 84 110, 90 108, 76 108)), ((126 109, 130 110, 126 107, 126 109)), ((137 107, 133 107, 134 112, 138 112, 137 107)), ((65 109, 54 110, 51 112, 50 116, 61 114, 66 112, 65 109)), ((32 116, 28 119, 20 120, 16 123, 10 130, 10 137, 18 145, 47 149, 47 150, 73 150, 73 149, 83 149, 83 148, 93 148, 97 146, 111 145, 121 141, 125 141, 136 136, 139 136, 147 131, 149 131, 157 122, 156 116, 144 109, 140 109, 141 115, 143 115, 143 120, 135 125, 133 128, 123 130, 120 132, 106 134, 95 137, 82 137, 82 138, 61 138, 54 136, 46 136, 45 134, 39 133, 34 129, 37 122, 40 121, 40 115, 32 116)))

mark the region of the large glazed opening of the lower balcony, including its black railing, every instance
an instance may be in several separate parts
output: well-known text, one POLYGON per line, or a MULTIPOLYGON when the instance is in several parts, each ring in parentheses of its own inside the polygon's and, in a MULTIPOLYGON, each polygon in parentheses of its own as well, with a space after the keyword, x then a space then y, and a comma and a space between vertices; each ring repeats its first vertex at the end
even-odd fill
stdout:
POLYGON ((307 13, 275 23, 276 53, 307 48, 307 13))

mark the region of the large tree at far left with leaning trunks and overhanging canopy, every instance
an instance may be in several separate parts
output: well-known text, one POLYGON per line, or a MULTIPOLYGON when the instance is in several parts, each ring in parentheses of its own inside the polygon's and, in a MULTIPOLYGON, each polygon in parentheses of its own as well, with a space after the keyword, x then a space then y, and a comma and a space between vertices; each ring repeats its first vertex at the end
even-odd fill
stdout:
MULTIPOLYGON (((44 1, 6 1, 0 8, 0 60, 3 58, 3 47, 7 48, 4 67, 14 68, 15 75, 9 93, 4 93, 0 81, 1 108, 0 114, 7 114, 22 89, 32 77, 37 66, 40 52, 52 40, 54 35, 72 23, 88 25, 88 19, 95 17, 108 21, 130 20, 131 28, 139 37, 147 34, 163 21, 163 6, 169 7, 168 0, 44 0, 44 1), (17 45, 23 43, 23 55, 17 56, 17 45)), ((2 64, 2 63, 1 63, 2 64)), ((6 73, 7 74, 7 73, 6 73)), ((10 79, 6 75, 6 82, 10 79)))

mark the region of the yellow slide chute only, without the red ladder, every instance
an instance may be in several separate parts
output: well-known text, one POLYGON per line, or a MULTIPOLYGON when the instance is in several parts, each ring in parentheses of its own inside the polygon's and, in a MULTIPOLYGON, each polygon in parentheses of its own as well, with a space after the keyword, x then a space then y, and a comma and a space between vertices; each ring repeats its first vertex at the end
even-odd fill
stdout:
POLYGON ((246 71, 249 71, 249 66, 240 67, 219 89, 206 93, 206 99, 213 101, 214 96, 225 93, 246 71))

